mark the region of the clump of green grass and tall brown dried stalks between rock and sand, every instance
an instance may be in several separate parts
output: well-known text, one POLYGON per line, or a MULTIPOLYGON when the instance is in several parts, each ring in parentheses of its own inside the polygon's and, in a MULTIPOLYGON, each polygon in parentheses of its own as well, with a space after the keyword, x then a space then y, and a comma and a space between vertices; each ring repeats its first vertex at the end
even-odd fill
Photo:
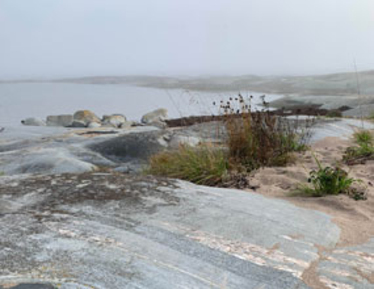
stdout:
MULTIPOLYGON (((224 116, 224 147, 203 144, 180 146, 151 157, 147 173, 188 180, 197 184, 222 186, 243 184, 243 174, 264 166, 283 166, 294 160, 293 153, 306 148, 307 126, 275 116, 268 109, 252 112, 251 97, 241 95, 221 101, 224 116), (240 176, 239 178, 237 176, 240 176)), ((263 99, 264 105, 266 101, 263 99)))

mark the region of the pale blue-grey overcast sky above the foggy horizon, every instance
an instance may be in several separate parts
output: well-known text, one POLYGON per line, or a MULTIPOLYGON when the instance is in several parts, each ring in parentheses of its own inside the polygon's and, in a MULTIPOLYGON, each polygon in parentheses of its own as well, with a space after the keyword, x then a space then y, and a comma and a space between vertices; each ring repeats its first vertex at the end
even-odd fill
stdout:
POLYGON ((0 78, 374 69, 374 0, 0 0, 0 78))

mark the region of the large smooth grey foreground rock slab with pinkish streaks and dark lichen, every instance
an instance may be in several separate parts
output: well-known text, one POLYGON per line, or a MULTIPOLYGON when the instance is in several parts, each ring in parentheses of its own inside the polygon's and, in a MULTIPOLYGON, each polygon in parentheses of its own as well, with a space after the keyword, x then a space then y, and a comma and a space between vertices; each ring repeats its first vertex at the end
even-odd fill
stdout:
POLYGON ((3 286, 308 288, 316 246, 339 238, 284 201, 123 174, 2 178, 0 216, 3 286))

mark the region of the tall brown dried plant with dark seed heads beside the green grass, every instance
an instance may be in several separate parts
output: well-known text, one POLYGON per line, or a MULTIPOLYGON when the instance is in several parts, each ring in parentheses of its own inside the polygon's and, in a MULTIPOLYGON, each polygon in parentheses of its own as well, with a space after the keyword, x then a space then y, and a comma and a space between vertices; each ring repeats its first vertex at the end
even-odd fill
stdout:
POLYGON ((221 109, 226 115, 231 162, 247 171, 285 165, 293 160, 293 152, 307 147, 308 130, 301 129, 298 120, 278 117, 268 109, 252 112, 251 98, 245 100, 239 95, 221 105, 221 109))

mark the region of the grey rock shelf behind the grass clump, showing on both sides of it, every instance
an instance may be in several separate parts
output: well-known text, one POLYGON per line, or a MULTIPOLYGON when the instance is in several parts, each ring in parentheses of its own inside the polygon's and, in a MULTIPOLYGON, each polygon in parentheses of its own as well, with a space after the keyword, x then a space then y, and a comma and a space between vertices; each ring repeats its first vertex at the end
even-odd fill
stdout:
MULTIPOLYGON (((218 124, 194 125, 160 130, 150 126, 114 128, 8 128, 0 139, 0 171, 8 175, 27 173, 65 173, 91 171, 96 167, 118 167, 136 173, 149 157, 179 144, 197 145, 200 141, 218 143, 224 130, 218 124)), ((349 138, 360 128, 359 120, 323 120, 313 128, 312 142, 327 136, 349 138)), ((365 122, 365 128, 374 128, 365 122)))

